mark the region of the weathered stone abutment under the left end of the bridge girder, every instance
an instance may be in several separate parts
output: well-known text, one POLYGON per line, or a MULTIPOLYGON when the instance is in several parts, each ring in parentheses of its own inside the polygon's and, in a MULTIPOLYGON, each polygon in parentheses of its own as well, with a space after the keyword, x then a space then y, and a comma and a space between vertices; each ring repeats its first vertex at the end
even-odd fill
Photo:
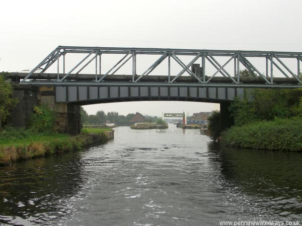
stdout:
POLYGON ((55 111, 58 133, 77 135, 81 132, 80 105, 56 103, 54 86, 40 87, 40 104, 46 104, 55 111))

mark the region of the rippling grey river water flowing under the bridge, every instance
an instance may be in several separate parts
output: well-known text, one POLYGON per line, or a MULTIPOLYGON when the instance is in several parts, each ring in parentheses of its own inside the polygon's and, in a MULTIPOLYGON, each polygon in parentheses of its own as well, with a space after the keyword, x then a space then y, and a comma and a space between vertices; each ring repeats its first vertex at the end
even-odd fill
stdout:
POLYGON ((0 224, 301 219, 302 154, 220 148, 174 125, 114 130, 107 144, 0 168, 0 224))

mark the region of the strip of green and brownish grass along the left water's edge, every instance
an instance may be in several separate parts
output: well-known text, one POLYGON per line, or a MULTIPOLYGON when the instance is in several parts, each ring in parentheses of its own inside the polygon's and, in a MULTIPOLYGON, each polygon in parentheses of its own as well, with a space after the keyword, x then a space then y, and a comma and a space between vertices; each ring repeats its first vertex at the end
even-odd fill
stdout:
POLYGON ((107 141, 106 131, 111 129, 84 129, 80 135, 70 136, 9 128, 0 132, 0 165, 81 150, 86 145, 107 141))

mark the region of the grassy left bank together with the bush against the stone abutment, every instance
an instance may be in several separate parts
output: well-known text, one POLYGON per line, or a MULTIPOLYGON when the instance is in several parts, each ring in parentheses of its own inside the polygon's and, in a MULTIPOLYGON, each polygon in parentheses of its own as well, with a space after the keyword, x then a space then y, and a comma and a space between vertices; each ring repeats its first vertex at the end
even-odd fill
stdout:
POLYGON ((45 105, 36 106, 26 128, 6 126, 0 130, 0 165, 80 150, 86 145, 105 142, 107 131, 111 129, 85 129, 78 136, 57 134, 53 110, 45 105))

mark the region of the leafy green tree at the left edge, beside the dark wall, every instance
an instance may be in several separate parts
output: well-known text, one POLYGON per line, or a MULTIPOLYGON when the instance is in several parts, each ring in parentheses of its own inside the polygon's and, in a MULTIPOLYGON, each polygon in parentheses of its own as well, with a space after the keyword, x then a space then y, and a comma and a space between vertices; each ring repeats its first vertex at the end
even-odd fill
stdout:
POLYGON ((0 74, 0 130, 10 115, 10 110, 17 104, 18 99, 13 98, 13 87, 3 74, 0 74))

